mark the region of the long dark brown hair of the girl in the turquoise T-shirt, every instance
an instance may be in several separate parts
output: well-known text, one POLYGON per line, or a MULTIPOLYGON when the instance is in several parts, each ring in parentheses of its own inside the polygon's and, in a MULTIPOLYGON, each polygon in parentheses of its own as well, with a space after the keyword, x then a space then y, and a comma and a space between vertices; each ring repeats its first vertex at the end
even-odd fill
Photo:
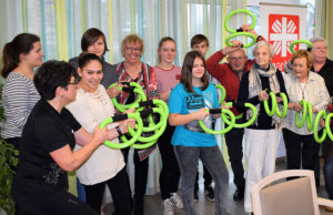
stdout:
POLYGON ((193 63, 196 58, 200 58, 203 62, 204 66, 204 73, 203 76, 201 78, 201 81, 203 82, 203 85, 201 86, 201 90, 205 90, 209 86, 209 78, 205 71, 205 60, 203 55, 199 51, 190 51, 186 53, 182 66, 182 73, 181 73, 181 80, 180 82, 184 84, 186 92, 193 92, 193 86, 192 86, 192 69, 193 69, 193 63))

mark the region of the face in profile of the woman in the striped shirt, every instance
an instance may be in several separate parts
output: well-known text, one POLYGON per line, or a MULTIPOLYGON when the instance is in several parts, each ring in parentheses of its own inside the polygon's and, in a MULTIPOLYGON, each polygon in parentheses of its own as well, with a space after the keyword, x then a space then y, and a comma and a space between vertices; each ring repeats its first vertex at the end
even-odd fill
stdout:
POLYGON ((29 53, 21 53, 20 61, 26 61, 31 68, 40 66, 43 62, 44 53, 41 50, 41 43, 34 42, 29 53))

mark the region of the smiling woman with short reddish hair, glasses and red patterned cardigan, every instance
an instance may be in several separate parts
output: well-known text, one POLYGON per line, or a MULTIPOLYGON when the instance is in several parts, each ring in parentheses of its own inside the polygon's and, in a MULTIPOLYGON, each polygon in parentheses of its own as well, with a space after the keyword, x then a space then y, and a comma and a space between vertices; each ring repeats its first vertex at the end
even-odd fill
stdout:
MULTIPOLYGON (((159 90, 154 70, 140 60, 144 52, 143 40, 137 34, 130 34, 122 40, 120 49, 124 61, 117 65, 119 81, 137 82, 142 86, 148 100, 158 99, 159 90)), ((120 95, 120 103, 130 104, 135 99, 137 95, 134 93, 123 92, 120 95)), ((145 150, 134 150, 134 215, 143 214, 143 196, 148 180, 149 155, 155 147, 157 145, 145 150)), ((127 162, 129 149, 124 149, 123 153, 127 162)))

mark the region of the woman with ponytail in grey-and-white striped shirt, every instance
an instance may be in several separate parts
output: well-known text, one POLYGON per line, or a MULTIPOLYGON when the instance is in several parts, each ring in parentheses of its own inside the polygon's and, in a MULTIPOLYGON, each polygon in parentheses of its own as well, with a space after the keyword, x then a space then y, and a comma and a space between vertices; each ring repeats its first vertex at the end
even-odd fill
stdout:
POLYGON ((17 149, 28 115, 40 99, 32 80, 33 69, 42 64, 42 59, 40 38, 31 33, 20 33, 3 47, 1 102, 6 122, 1 136, 17 149))

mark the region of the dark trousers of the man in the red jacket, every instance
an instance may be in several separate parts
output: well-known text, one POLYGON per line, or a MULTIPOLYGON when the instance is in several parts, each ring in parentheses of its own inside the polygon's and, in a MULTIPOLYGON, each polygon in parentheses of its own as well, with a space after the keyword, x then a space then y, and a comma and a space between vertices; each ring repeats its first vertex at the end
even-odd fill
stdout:
POLYGON ((232 129, 225 133, 229 160, 233 172, 233 183, 239 190, 245 188, 244 167, 243 167, 243 129, 232 129))

